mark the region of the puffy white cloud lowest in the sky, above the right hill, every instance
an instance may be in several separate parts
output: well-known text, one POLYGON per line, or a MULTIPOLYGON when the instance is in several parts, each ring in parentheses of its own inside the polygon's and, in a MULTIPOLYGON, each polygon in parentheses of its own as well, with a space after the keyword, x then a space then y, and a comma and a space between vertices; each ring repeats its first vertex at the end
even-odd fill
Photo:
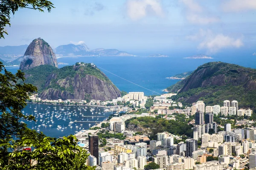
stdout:
POLYGON ((211 30, 200 29, 198 34, 188 36, 189 40, 200 41, 198 49, 207 49, 209 53, 216 53, 222 48, 239 48, 243 45, 241 38, 233 38, 224 34, 214 34, 211 30))

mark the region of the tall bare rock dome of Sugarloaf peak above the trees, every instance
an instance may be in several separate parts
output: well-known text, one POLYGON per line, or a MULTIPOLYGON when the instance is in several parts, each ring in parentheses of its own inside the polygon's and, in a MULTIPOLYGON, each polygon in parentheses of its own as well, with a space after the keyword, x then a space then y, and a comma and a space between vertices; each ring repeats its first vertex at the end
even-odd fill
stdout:
POLYGON ((20 70, 27 70, 38 65, 52 65, 58 68, 52 48, 41 38, 37 38, 29 44, 20 63, 20 70))

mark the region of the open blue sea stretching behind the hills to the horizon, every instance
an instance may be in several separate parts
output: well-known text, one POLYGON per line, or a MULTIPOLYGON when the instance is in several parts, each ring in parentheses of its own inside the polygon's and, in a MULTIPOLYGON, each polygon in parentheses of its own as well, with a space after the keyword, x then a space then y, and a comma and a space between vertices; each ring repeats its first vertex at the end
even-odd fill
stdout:
MULTIPOLYGON (((222 61, 256 68, 256 56, 244 51, 212 55, 214 59, 183 58, 191 56, 189 54, 169 56, 173 57, 61 57, 57 60, 68 65, 76 62, 93 62, 121 91, 143 91, 148 96, 163 94, 165 88, 178 81, 166 77, 193 71, 207 62, 222 61)), ((66 65, 59 65, 59 68, 64 66, 66 65)), ((17 69, 18 67, 7 67, 7 70, 13 73, 17 69)))

